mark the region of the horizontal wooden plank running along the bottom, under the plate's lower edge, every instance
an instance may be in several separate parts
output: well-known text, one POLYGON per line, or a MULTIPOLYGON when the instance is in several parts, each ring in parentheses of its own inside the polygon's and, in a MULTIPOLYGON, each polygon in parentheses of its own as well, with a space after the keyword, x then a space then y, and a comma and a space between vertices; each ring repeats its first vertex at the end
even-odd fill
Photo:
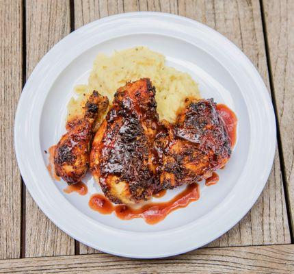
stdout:
POLYGON ((160 260, 101 253, 0 261, 0 273, 293 273, 294 245, 205 248, 160 260))

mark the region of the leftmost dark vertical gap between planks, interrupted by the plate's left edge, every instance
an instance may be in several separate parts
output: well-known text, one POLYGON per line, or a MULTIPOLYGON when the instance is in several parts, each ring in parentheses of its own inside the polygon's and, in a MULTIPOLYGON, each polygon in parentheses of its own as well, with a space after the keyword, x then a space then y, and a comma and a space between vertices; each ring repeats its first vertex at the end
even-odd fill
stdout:
MULTIPOLYGON (((27 79, 27 31, 26 31, 26 14, 25 14, 25 3, 26 0, 22 1, 22 17, 23 17, 23 24, 22 24, 22 32, 23 32, 23 64, 22 64, 22 77, 23 77, 23 88, 25 86, 25 82, 27 79)), ((21 178, 21 258, 25 258, 25 197, 26 197, 26 187, 25 182, 23 182, 23 178, 21 178)))

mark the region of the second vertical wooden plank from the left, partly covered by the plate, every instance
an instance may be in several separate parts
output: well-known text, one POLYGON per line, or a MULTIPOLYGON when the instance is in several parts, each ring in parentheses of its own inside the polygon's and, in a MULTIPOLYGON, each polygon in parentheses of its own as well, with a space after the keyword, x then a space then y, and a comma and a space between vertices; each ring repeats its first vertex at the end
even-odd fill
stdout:
MULTIPOLYGON (((70 32, 69 1, 26 1, 27 77, 43 55, 70 32)), ((75 254, 75 241, 40 211, 27 191, 25 256, 75 254)))

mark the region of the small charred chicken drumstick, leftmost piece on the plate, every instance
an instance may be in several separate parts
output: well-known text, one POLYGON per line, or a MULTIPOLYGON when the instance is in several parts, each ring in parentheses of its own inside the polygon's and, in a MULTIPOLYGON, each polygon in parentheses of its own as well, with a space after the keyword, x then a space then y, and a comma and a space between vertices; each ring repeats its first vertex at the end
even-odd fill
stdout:
POLYGON ((94 125, 107 110, 108 99, 93 91, 85 104, 85 114, 81 119, 68 123, 67 133, 55 148, 55 172, 68 184, 80 182, 85 175, 90 159, 90 145, 94 125))

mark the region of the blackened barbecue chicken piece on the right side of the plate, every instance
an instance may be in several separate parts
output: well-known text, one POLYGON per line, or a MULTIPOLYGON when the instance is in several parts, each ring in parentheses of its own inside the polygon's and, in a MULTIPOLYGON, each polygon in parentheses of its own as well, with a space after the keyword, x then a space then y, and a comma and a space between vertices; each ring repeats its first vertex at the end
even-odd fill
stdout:
POLYGON ((230 140, 213 99, 185 103, 174 125, 161 121, 155 140, 163 189, 206 179, 230 158, 230 140))

